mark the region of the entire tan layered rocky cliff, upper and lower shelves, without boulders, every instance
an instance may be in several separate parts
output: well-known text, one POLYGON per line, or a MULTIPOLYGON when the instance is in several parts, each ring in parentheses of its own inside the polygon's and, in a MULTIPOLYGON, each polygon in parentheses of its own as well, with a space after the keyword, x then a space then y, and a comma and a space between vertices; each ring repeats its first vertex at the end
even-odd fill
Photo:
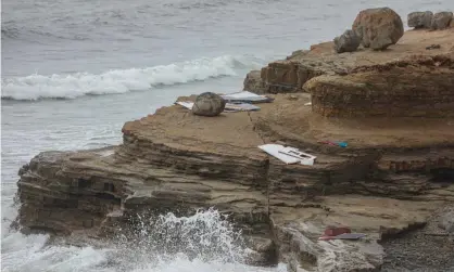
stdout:
POLYGON ((333 54, 323 43, 272 63, 253 85, 298 93, 270 94, 258 112, 203 117, 173 105, 126 122, 118 146, 41 153, 20 170, 17 221, 109 237, 137 215, 215 207, 252 242, 251 262, 378 271, 379 242, 454 203, 454 33, 419 31, 388 51, 333 54), (257 148, 278 141, 316 163, 285 165, 257 148), (367 237, 318 241, 328 225, 367 237))

